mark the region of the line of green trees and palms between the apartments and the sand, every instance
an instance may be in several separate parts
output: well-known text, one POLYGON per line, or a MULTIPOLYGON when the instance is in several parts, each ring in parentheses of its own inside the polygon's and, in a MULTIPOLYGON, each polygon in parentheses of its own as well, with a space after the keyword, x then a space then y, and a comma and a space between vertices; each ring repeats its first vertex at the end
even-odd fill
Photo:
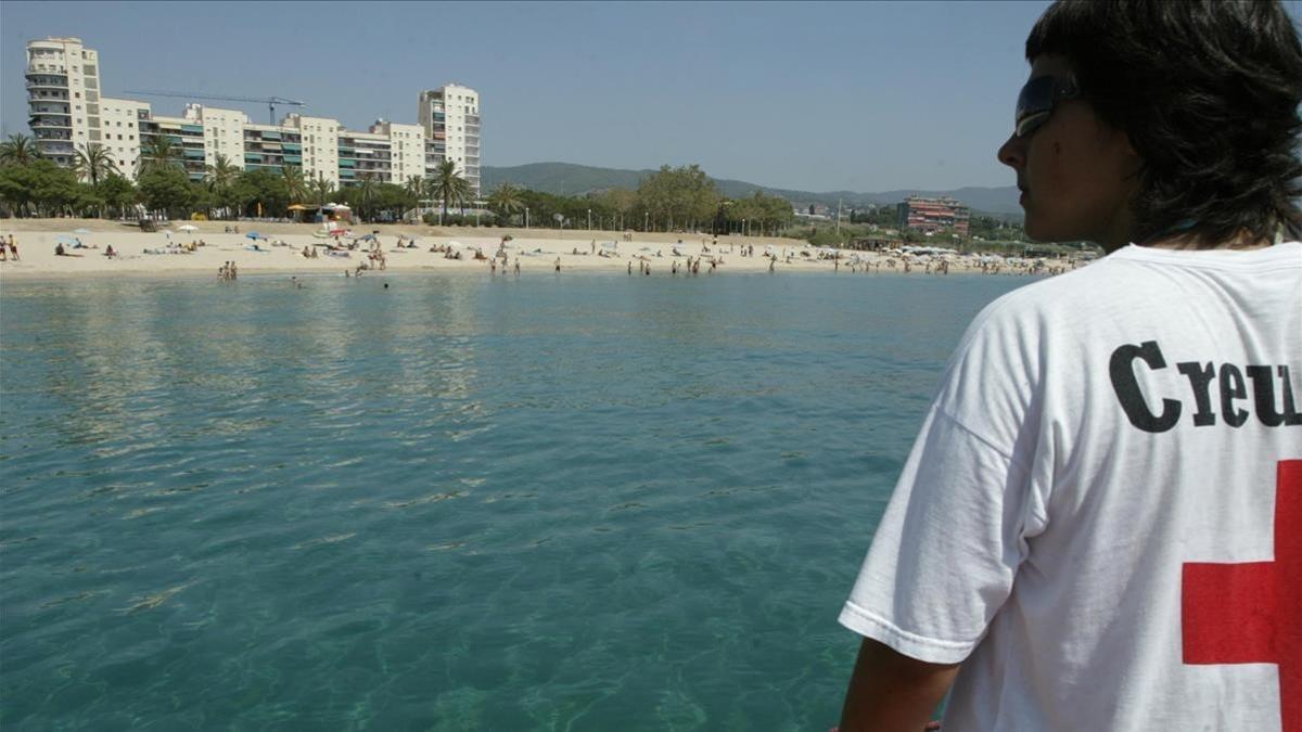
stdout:
POLYGON ((362 172, 339 188, 322 176, 305 178, 297 167, 242 171, 223 155, 204 168, 203 180, 193 180, 165 135, 146 142, 134 181, 99 145, 82 145, 74 160, 59 167, 39 155, 31 138, 10 135, 0 143, 0 210, 10 216, 135 218, 143 211, 237 219, 286 216, 292 203, 341 202, 363 221, 398 221, 423 211, 431 224, 750 234, 773 234, 793 221, 788 201, 760 191, 728 199, 699 165, 664 165, 637 190, 555 195, 503 184, 475 201, 450 160, 423 178, 384 182, 362 172))

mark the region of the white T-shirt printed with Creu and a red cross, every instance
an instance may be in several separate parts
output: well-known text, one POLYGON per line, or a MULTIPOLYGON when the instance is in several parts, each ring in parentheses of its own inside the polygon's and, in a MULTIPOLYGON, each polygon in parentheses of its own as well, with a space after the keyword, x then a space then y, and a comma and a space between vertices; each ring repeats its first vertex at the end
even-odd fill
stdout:
POLYGON ((1009 293, 840 620, 963 662, 947 732, 1299 731, 1299 242, 1128 246, 1009 293))

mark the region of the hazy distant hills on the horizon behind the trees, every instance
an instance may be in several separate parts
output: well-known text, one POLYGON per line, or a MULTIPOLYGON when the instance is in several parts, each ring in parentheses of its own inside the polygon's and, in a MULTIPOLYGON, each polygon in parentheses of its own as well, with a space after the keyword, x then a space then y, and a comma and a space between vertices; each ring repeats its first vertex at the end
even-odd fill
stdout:
MULTIPOLYGON (((500 184, 523 186, 531 190, 553 193, 557 195, 582 195, 611 188, 637 189, 643 177, 655 171, 622 171, 617 168, 594 168, 591 165, 575 165, 573 163, 529 163, 527 165, 513 165, 505 168, 484 167, 480 171, 480 180, 486 191, 497 188, 500 184)), ((736 181, 728 178, 713 178, 719 191, 728 198, 742 198, 760 190, 766 195, 781 195, 797 206, 810 203, 823 203, 835 207, 840 199, 848 208, 867 204, 900 203, 907 195, 941 197, 949 195, 962 201, 974 211, 987 214, 1009 215, 1019 218, 1022 207, 1017 203, 1017 186, 976 188, 967 186, 956 190, 885 190, 880 193, 859 193, 853 190, 832 190, 814 193, 809 190, 789 190, 769 188, 759 184, 736 181)))

